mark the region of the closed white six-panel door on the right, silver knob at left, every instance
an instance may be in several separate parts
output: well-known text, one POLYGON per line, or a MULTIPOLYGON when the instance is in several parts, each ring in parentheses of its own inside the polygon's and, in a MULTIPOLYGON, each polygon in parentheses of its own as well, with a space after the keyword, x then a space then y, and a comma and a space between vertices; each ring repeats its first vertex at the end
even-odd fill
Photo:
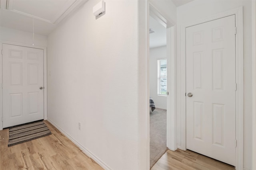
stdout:
POLYGON ((231 165, 236 151, 235 36, 234 15, 186 28, 186 148, 231 165))

